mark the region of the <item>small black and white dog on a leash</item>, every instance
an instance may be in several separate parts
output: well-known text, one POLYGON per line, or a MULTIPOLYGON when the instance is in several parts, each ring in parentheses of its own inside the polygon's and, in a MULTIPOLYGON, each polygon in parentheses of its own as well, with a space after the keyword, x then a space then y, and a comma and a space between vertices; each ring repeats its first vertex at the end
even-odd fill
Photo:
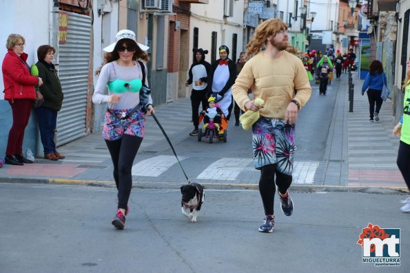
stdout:
POLYGON ((201 205, 205 199, 203 186, 198 183, 189 182, 189 184, 181 186, 181 193, 182 214, 194 223, 196 222, 196 217, 198 217, 198 212, 201 210, 201 205))

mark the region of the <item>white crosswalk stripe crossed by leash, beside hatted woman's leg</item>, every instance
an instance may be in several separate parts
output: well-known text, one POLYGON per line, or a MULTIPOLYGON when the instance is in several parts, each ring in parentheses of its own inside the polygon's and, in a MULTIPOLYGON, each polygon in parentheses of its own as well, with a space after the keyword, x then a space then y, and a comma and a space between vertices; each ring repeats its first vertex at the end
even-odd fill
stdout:
MULTIPOLYGON (((180 161, 185 158, 178 157, 180 161)), ((158 177, 176 163, 174 155, 158 155, 134 164, 132 166, 132 175, 158 177)))

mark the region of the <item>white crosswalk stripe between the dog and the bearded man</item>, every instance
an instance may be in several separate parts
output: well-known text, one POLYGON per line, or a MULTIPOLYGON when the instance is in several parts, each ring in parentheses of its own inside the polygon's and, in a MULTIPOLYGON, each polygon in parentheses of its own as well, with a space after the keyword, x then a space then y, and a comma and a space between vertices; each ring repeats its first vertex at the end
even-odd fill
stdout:
POLYGON ((235 180, 239 173, 252 163, 249 158, 222 158, 210 164, 197 179, 235 180))

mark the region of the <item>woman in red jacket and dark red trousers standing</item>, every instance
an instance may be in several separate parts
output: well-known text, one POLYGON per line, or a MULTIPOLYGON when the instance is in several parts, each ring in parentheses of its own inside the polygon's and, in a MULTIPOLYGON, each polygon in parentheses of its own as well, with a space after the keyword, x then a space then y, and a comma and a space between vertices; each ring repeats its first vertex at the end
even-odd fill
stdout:
POLYGON ((8 133, 6 164, 23 165, 32 163, 23 155, 24 130, 30 119, 33 100, 36 98, 34 85, 41 86, 43 80, 30 75, 30 67, 25 62, 25 39, 19 34, 10 34, 6 42, 8 50, 1 65, 4 82, 4 99, 12 107, 13 124, 8 133))

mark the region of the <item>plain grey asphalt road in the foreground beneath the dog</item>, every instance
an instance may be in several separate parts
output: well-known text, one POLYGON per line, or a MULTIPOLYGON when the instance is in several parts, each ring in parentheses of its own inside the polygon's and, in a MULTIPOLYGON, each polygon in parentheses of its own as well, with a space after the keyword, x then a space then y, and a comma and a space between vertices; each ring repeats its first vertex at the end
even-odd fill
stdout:
POLYGON ((274 232, 267 234, 258 232, 258 190, 205 190, 191 223, 178 189, 134 189, 124 230, 111 225, 115 194, 0 184, 0 272, 409 272, 410 215, 398 210, 400 195, 296 190, 290 217, 275 199, 274 232), (357 242, 369 223, 400 228, 400 266, 362 262, 357 242))

